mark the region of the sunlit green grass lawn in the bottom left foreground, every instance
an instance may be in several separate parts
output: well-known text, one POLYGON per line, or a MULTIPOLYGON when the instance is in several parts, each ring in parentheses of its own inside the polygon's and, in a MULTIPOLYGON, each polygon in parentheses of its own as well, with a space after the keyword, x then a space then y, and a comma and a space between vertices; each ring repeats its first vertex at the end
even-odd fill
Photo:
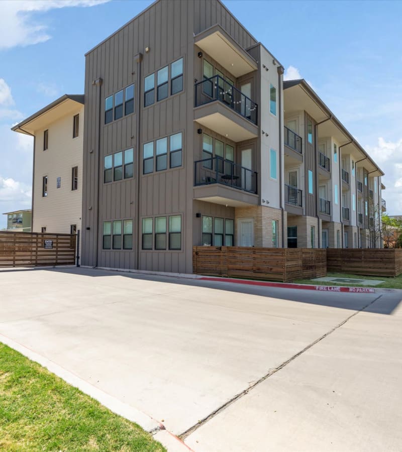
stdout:
POLYGON ((137 424, 0 343, 0 450, 166 449, 137 424))

